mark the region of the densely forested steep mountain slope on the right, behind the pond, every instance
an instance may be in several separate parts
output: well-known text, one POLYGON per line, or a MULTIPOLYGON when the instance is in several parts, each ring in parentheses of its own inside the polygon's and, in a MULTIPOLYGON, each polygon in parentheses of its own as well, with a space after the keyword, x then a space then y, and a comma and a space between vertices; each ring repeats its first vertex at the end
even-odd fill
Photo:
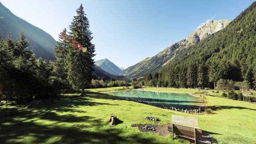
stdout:
POLYGON ((256 2, 226 28, 184 49, 160 72, 159 82, 175 87, 213 87, 218 80, 256 85, 256 2))

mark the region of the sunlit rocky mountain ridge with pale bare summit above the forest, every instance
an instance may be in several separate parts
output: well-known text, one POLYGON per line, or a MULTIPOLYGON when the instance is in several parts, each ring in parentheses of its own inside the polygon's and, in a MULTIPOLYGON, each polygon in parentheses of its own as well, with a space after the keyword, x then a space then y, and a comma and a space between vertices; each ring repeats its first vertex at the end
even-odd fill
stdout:
POLYGON ((188 48, 189 46, 196 44, 211 34, 222 30, 230 23, 230 20, 211 20, 196 29, 186 39, 181 40, 175 44, 168 46, 162 52, 151 58, 146 58, 137 64, 126 68, 122 75, 128 78, 139 78, 146 73, 154 73, 158 71, 162 66, 168 64, 174 56, 176 56, 181 50, 188 48))

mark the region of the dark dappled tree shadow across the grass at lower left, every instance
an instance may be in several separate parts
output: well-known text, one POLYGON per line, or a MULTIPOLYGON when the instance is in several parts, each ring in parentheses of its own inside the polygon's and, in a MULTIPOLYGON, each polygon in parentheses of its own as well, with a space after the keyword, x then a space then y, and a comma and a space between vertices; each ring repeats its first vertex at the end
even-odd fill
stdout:
MULTIPOLYGON (((1 108, 0 143, 156 144, 154 138, 126 133, 126 130, 109 126, 109 123, 101 118, 72 114, 85 113, 86 109, 76 109, 80 106, 112 105, 96 102, 92 98, 119 99, 116 96, 90 92, 88 96, 62 97, 54 99, 53 102, 31 105, 30 108, 26 105, 15 106, 18 113, 12 116, 6 116, 12 109, 1 108), (65 114, 65 112, 69 113, 65 114)), ((116 124, 122 123, 122 120, 116 122, 116 124)))

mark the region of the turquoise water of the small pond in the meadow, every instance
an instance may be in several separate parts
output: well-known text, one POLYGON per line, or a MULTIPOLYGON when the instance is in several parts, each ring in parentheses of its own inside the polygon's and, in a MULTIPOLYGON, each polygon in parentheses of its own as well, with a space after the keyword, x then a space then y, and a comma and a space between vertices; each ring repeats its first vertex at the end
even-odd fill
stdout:
POLYGON ((204 100, 190 94, 176 94, 165 92, 149 92, 142 90, 127 90, 106 92, 112 96, 118 96, 127 100, 143 101, 153 106, 170 106, 176 108, 198 108, 204 106, 204 100), (140 98, 138 98, 140 97, 140 98))

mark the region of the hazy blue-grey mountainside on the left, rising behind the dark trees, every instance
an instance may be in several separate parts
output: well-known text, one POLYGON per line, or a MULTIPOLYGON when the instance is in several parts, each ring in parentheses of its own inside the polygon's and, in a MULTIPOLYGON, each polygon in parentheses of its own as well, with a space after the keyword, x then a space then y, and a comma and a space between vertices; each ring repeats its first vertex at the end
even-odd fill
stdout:
POLYGON ((6 36, 12 34, 12 38, 19 38, 19 33, 23 31, 29 41, 29 49, 33 49, 37 57, 54 60, 54 46, 56 40, 50 34, 32 24, 22 20, 18 16, 12 14, 0 2, 0 34, 6 36))

